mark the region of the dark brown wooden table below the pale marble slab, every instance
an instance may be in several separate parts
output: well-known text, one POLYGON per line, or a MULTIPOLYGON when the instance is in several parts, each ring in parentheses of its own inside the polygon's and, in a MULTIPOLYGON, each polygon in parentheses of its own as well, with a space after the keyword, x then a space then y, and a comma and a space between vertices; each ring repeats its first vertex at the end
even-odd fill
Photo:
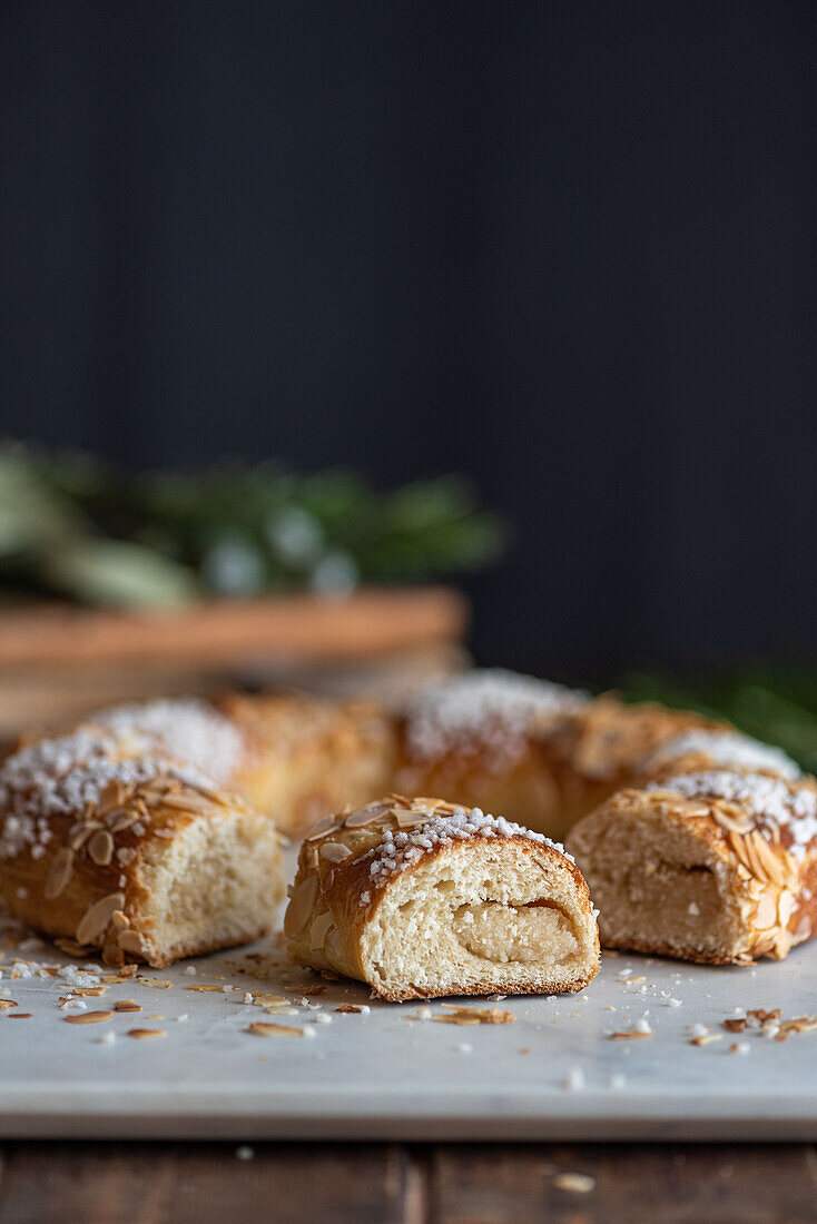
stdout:
MULTIPOLYGON (((6 1143, 2 1224, 817 1219, 812 1144, 6 1143), (252 1155, 249 1155, 249 1152, 252 1155), (565 1174, 594 1179, 565 1189, 565 1174)), ((567 1179, 567 1187, 571 1186, 567 1179)))

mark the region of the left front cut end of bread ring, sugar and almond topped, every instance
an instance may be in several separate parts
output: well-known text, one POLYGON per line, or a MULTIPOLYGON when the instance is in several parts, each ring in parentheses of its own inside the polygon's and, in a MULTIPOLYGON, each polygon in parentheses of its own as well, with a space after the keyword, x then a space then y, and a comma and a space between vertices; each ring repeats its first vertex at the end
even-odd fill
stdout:
POLYGON ((83 727, 0 769, 0 901, 66 951, 163 968, 265 934, 282 896, 269 819, 141 734, 83 727))

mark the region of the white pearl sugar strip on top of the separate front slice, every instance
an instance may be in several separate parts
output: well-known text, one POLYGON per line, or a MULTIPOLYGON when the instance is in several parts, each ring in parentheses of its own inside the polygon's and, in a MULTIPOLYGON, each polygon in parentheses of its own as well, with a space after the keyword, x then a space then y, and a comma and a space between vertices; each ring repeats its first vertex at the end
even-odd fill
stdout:
MULTIPOLYGON (((378 845, 361 856, 361 862, 371 859, 369 875, 372 883, 385 884, 392 876, 413 867, 424 854, 474 837, 525 837, 541 846, 550 846, 571 863, 574 862, 563 846, 545 837, 544 834, 535 834, 502 816, 488 815, 480 808, 454 808, 451 815, 432 815, 415 829, 387 829, 378 845)), ((366 905, 369 900, 370 894, 361 894, 360 905, 366 905)))

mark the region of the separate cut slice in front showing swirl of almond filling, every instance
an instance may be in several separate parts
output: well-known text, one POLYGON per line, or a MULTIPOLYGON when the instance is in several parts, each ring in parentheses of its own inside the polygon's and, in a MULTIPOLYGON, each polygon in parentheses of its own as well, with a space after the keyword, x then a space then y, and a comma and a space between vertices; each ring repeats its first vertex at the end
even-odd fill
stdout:
POLYGON ((293 960, 381 999, 555 994, 599 968, 587 884, 541 834, 402 796, 321 821, 284 920, 293 960))

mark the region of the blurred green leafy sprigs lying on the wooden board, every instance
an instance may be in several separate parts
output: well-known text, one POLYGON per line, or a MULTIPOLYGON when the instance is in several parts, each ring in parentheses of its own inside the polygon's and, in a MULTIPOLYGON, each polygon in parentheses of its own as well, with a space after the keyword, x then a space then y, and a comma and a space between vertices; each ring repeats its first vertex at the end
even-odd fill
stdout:
POLYGON ((456 476, 380 492, 353 472, 274 464, 122 472, 0 447, 0 590, 160 607, 203 595, 415 583, 488 565, 506 531, 456 476))

